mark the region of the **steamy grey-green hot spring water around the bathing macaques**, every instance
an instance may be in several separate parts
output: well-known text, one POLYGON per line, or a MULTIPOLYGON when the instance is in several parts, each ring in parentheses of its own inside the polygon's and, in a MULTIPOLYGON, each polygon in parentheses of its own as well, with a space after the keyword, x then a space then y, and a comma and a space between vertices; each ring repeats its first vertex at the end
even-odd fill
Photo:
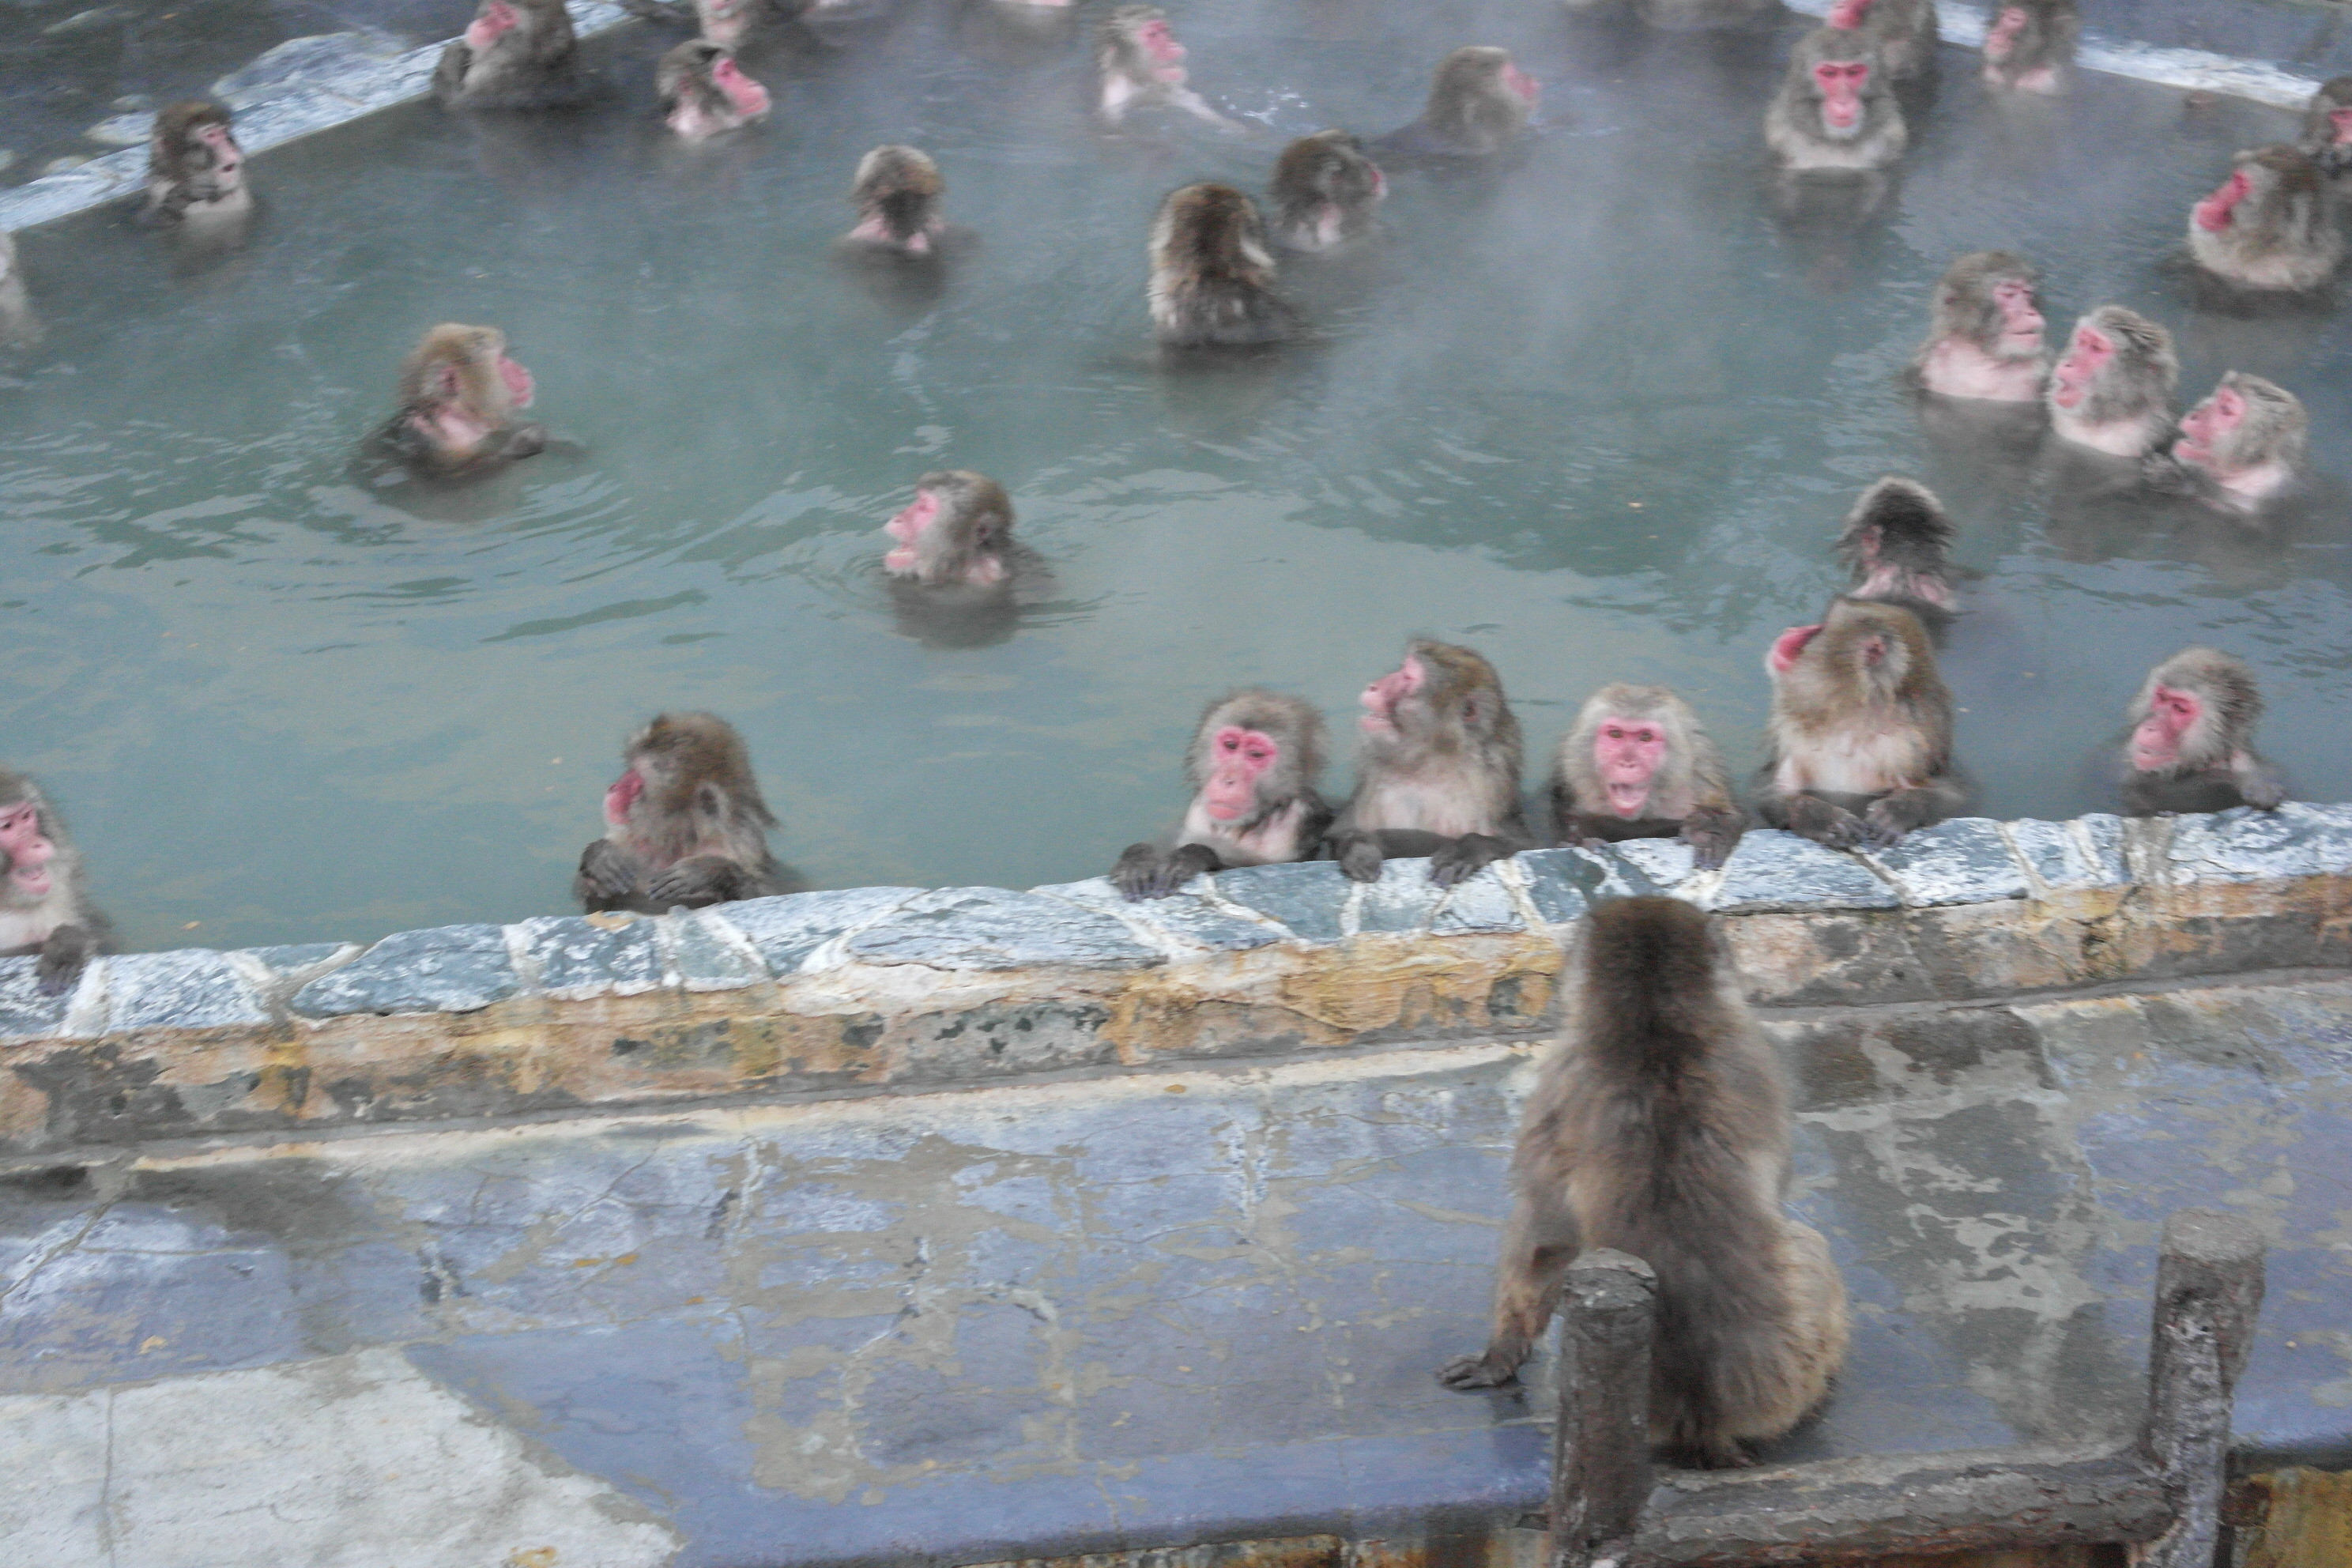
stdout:
POLYGON ((0 367, 5 762, 64 804, 127 943, 567 910, 619 743, 668 705, 746 731, 818 886, 1101 872, 1174 816, 1188 729, 1240 682, 1324 705, 1343 792, 1355 693, 1416 632, 1498 663, 1531 788, 1606 679, 1679 686, 1745 771, 1762 651, 1818 618, 1837 524, 1891 470, 1945 496, 1980 574, 1945 654, 1976 809, 2110 806, 2091 755, 2192 639, 2260 668, 2300 795, 2352 795, 2352 329, 2204 315, 2159 266, 2284 115, 2096 75, 1997 106, 1947 49, 1884 207, 1792 230, 1757 118, 1795 24, 1176 19, 1195 85, 1256 132, 1103 139, 1077 45, 1023 56, 915 0, 849 49, 755 61, 776 115, 736 146, 654 134, 670 38, 637 28, 597 52, 597 113, 419 106, 259 158, 266 221, 226 266, 174 268, 120 209, 24 235, 49 339, 0 367), (1261 190, 1289 136, 1409 120, 1463 42, 1545 82, 1526 160, 1392 169, 1381 256, 1287 268, 1322 343, 1157 367, 1160 195, 1261 190), (983 235, 934 299, 828 256, 880 141, 927 146, 983 235), (1933 277, 1987 244, 2044 266, 2053 336, 2105 301, 2171 324, 2183 402, 2230 367, 2300 393, 2321 503, 2267 538, 2053 515, 2025 465, 1931 447, 1893 376, 1933 277), (576 449, 470 489, 355 475, 435 320, 506 327, 576 449), (1011 489, 1051 564, 1018 625, 913 623, 884 590, 877 529, 927 468, 1011 489))

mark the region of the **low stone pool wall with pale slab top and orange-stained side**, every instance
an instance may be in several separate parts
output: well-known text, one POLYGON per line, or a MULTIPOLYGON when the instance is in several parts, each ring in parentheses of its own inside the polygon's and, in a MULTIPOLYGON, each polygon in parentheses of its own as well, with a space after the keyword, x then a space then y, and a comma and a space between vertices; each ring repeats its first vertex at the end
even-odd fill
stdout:
POLYGON ((2352 806, 1959 818, 1886 851, 1748 832, 1538 849, 1439 889, 1329 860, 1124 900, 1108 879, 837 889, 374 945, 143 952, 42 997, 0 959, 0 1159, 89 1143, 856 1093, 1557 1027, 1595 903, 1726 917, 1773 1006, 1980 1001, 2352 966, 2352 806))

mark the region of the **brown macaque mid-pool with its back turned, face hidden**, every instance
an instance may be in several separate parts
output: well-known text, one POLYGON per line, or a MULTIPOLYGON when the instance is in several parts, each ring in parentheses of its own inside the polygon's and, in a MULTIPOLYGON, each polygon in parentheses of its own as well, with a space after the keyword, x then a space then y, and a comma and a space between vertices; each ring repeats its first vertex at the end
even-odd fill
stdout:
POLYGON ((1296 336, 1275 294, 1256 205, 1232 186, 1185 186, 1152 219, 1152 331, 1164 348, 1230 348, 1296 336))

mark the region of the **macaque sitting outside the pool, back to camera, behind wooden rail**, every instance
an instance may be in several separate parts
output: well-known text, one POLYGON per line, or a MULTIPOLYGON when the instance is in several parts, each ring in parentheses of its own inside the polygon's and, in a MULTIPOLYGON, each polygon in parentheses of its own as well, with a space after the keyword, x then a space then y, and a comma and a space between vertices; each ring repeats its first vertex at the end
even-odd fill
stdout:
POLYGON ((1571 1020, 1519 1114, 1494 1335, 1439 1373, 1517 1380, 1588 1248, 1658 1276, 1649 1436, 1698 1469, 1795 1427, 1846 1356, 1846 1286, 1788 1218, 1780 1060, 1740 999, 1729 945, 1679 898, 1611 898, 1571 952, 1571 1020))

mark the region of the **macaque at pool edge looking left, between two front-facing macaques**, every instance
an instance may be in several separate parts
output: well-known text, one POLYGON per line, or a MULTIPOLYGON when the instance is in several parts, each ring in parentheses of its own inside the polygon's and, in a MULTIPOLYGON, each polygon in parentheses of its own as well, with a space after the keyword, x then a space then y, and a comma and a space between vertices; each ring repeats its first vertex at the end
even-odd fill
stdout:
POLYGON ((1416 637, 1362 701, 1355 797, 1331 827, 1348 877, 1374 882, 1390 856, 1428 856, 1430 882, 1454 886, 1526 846, 1519 719, 1491 663, 1416 637))

